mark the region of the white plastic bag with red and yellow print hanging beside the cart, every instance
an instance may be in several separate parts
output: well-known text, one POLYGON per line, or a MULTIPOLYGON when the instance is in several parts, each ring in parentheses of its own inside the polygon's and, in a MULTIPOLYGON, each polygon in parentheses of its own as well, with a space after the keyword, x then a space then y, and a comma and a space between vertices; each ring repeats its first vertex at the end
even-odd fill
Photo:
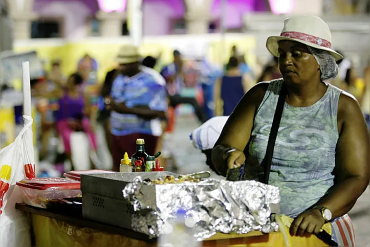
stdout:
POLYGON ((24 116, 25 125, 15 141, 0 151, 0 246, 31 246, 27 215, 15 209, 21 203, 16 182, 35 177, 32 145, 32 118, 24 116))

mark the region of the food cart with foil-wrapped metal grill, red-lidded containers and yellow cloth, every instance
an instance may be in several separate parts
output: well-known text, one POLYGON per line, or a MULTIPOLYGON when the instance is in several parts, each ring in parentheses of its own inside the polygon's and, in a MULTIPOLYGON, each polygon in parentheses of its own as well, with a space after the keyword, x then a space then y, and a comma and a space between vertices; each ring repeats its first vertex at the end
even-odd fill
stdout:
MULTIPOLYGON (((30 116, 30 93, 24 95, 30 116)), ((32 138, 26 141, 32 147, 32 138)), ((322 236, 289 236, 293 219, 278 214, 278 188, 255 181, 96 170, 35 178, 34 167, 28 170, 33 176, 16 183, 23 203, 15 208, 29 215, 32 246, 158 246, 163 224, 180 208, 194 218, 202 246, 335 245, 322 236)), ((330 223, 322 233, 331 235, 330 223)))

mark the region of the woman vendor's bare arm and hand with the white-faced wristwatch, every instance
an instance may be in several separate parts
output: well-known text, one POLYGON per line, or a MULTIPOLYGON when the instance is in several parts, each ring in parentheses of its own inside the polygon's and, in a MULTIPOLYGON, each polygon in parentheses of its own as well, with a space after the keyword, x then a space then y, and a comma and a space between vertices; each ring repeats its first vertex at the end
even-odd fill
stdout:
MULTIPOLYGON (((358 102, 347 93, 339 98, 338 129, 335 186, 316 204, 328 208, 332 219, 349 212, 369 184, 369 133, 358 102)), ((324 222, 318 209, 309 209, 294 219, 291 234, 318 233, 324 222)))

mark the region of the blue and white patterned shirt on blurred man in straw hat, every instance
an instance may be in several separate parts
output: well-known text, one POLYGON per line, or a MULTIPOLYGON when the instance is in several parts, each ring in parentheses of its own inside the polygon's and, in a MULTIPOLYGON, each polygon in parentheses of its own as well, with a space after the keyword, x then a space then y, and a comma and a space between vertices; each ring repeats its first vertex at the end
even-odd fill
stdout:
MULTIPOLYGON (((148 107, 166 111, 166 82, 155 70, 141 67, 141 72, 132 77, 119 75, 113 81, 111 96, 116 103, 125 103, 128 108, 148 107)), ((159 119, 147 120, 135 114, 111 113, 111 132, 114 136, 140 133, 160 136, 159 119)))

